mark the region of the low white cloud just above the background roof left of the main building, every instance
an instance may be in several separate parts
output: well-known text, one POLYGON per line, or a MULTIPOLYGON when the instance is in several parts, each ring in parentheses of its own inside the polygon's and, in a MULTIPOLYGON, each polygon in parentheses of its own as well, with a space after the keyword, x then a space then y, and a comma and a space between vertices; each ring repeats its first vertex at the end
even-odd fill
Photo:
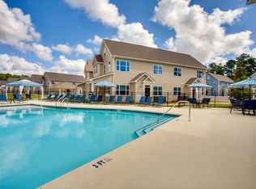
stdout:
POLYGON ((83 69, 86 61, 83 59, 70 60, 65 56, 60 56, 58 61, 54 62, 52 71, 60 73, 77 73, 83 75, 83 69))

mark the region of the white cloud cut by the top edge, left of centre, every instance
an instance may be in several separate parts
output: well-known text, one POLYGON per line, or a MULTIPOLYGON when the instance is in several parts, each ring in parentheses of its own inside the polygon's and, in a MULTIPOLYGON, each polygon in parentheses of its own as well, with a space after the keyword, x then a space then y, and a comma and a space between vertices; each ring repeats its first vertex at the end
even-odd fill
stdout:
POLYGON ((109 0, 64 0, 72 8, 82 9, 93 20, 111 27, 118 27, 126 23, 126 17, 119 14, 117 6, 109 0))

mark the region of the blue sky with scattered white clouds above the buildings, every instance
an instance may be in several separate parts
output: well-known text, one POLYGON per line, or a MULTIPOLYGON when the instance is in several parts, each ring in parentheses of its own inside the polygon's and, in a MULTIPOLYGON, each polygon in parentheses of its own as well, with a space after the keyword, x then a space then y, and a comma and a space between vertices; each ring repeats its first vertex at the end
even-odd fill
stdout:
POLYGON ((0 0, 0 73, 83 74, 102 39, 188 53, 204 65, 256 57, 245 0, 0 0))

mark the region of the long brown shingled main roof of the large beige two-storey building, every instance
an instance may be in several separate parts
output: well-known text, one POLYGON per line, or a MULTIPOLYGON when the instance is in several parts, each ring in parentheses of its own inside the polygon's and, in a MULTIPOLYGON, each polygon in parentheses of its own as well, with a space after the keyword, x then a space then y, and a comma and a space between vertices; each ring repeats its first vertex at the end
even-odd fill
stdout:
POLYGON ((128 44, 115 40, 103 40, 110 53, 114 57, 126 57, 130 59, 139 59, 144 61, 155 61, 175 65, 191 66, 198 69, 207 69, 207 67, 195 60, 188 54, 171 52, 160 48, 150 48, 138 44, 128 44))

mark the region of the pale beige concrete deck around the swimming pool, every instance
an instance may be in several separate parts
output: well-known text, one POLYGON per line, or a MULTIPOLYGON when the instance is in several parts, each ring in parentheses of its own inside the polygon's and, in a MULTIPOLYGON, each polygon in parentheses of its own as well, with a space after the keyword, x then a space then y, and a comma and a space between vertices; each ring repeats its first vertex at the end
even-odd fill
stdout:
MULTIPOLYGON (((71 103, 69 107, 168 109, 71 103)), ((192 108, 189 122, 187 107, 170 112, 181 116, 41 188, 256 188, 256 116, 192 108), (105 158, 112 160, 97 169, 92 166, 105 158)))

